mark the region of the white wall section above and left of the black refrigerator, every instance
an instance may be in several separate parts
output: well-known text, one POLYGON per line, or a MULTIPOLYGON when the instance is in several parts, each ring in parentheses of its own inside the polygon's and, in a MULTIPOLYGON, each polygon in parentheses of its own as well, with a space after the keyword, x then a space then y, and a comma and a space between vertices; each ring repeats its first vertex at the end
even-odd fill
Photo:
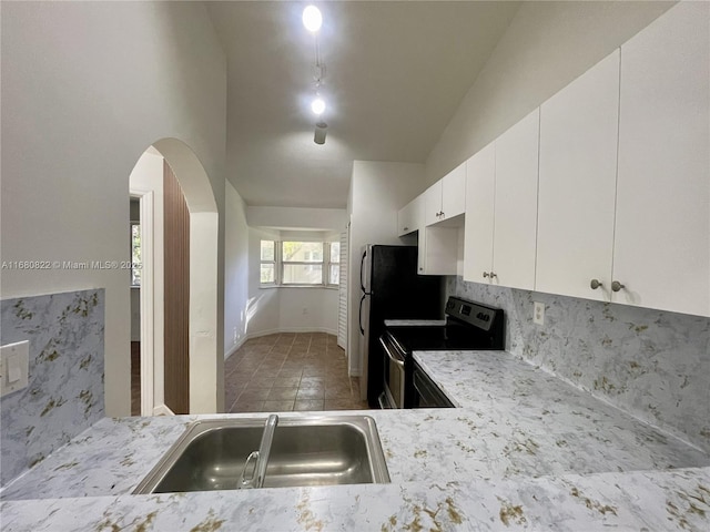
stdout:
POLYGON ((424 166, 355 161, 348 195, 351 218, 347 358, 359 375, 359 265, 366 244, 405 244, 397 237, 397 211, 424 188, 424 166))

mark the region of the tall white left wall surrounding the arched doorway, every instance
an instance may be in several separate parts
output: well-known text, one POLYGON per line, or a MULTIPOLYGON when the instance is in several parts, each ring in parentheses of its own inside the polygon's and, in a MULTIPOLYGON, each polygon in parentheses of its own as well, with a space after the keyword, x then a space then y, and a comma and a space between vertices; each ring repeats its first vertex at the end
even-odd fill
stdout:
MULTIPOLYGON (((226 66, 202 4, 2 2, 1 9, 3 260, 128 259, 129 174, 161 139, 192 149, 224 213, 226 66)), ((219 219, 205 224, 215 232, 210 297, 217 303, 200 309, 204 341, 195 347, 207 346, 205 356, 221 360, 224 216, 219 219)), ((105 410, 128 416, 125 272, 2 274, 3 298, 105 288, 105 410)), ((215 403, 220 390, 211 388, 206 402, 215 403)))

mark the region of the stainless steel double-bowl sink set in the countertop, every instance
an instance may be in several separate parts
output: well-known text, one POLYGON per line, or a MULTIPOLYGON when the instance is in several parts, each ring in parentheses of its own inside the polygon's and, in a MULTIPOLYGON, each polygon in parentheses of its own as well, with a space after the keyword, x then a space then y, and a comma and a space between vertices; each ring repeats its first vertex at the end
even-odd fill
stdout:
MULTIPOLYGON (((258 449, 266 418, 210 419, 187 427, 133 493, 233 490, 258 449)), ((389 482, 367 416, 281 418, 264 488, 389 482)))

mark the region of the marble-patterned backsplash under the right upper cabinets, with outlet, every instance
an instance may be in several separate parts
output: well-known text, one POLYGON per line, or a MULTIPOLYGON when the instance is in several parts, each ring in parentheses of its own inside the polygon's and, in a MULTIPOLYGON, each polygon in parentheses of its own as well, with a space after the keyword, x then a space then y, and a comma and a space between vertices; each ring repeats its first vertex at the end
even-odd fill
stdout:
POLYGON ((448 294, 503 308, 506 349, 710 452, 710 318, 518 290, 462 277, 448 294), (545 304, 545 325, 532 323, 545 304))

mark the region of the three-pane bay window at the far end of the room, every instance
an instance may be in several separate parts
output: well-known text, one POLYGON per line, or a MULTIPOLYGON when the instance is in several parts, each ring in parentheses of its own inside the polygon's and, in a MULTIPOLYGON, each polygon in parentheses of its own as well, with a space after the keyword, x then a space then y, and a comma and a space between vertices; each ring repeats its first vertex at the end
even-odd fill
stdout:
POLYGON ((261 285, 337 286, 341 245, 337 242, 261 241, 261 285))

